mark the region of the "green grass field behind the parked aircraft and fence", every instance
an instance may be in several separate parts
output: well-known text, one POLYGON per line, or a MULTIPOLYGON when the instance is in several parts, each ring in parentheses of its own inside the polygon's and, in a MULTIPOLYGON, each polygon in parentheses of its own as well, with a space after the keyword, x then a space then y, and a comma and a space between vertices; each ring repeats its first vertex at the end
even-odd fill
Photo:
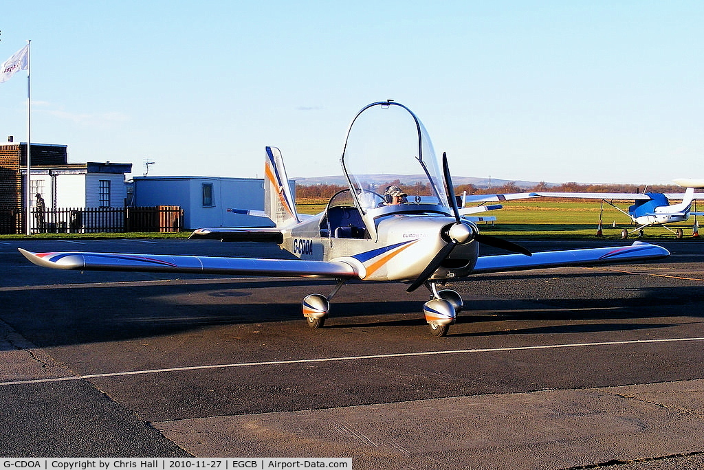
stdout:
MULTIPOLYGON (((298 201, 296 208, 301 214, 317 214, 325 210, 327 201, 307 200, 298 201)), ((624 201, 618 204, 627 210, 630 203, 624 201)), ((483 212, 482 215, 496 216, 496 222, 480 223, 479 229, 490 232, 492 235, 505 238, 568 238, 568 239, 594 239, 599 222, 599 201, 555 201, 533 199, 524 201, 506 201, 503 209, 492 212, 483 212)), ((681 228, 685 239, 692 239, 694 217, 681 224, 670 224, 668 227, 675 230, 681 228)), ((629 231, 636 227, 631 220, 621 212, 606 206, 602 215, 602 233, 605 239, 620 239, 622 229, 629 231), (615 225, 615 227, 614 227, 615 225)), ((35 234, 32 239, 96 239, 96 238, 142 238, 142 239, 169 239, 187 238, 190 231, 177 234, 158 233, 104 233, 104 234, 35 234)), ((703 233, 704 236, 704 233, 703 233)), ((24 239, 24 235, 0 235, 0 239, 24 239)), ((638 234, 631 234, 630 239, 638 238, 638 234)), ((644 239, 674 239, 674 234, 662 227, 646 227, 644 239)))

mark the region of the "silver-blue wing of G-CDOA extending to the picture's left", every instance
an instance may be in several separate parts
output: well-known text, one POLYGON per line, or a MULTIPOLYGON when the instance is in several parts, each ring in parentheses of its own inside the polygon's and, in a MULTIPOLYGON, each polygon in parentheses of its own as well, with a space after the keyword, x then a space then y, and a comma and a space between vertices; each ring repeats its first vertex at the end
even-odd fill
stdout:
POLYGON ((81 271, 184 272, 244 276, 322 277, 349 279, 358 273, 346 262, 227 258, 190 255, 138 255, 130 253, 32 253, 19 248, 35 265, 81 271))

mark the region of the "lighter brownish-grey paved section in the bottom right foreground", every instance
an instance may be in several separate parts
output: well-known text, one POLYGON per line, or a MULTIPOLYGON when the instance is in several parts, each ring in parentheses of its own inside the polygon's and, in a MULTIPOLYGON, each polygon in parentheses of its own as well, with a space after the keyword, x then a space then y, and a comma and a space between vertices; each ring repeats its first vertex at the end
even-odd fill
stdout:
MULTIPOLYGON (((202 457, 352 457, 355 469, 700 461, 704 381, 545 390, 157 423, 202 457), (683 457, 687 456, 689 457, 683 457)), ((677 468, 662 466, 662 468, 677 468)))

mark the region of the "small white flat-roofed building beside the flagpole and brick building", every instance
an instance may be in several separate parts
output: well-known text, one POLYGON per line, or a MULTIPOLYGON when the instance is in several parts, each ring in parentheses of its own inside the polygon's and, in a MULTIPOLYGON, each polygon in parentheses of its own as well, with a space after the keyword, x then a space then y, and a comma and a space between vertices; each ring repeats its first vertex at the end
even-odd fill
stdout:
MULTIPOLYGON (((22 170, 25 182, 27 170, 22 170)), ((121 208, 125 206, 127 189, 125 174, 132 172, 132 163, 69 163, 66 165, 32 166, 30 191, 44 198, 50 208, 121 208)))

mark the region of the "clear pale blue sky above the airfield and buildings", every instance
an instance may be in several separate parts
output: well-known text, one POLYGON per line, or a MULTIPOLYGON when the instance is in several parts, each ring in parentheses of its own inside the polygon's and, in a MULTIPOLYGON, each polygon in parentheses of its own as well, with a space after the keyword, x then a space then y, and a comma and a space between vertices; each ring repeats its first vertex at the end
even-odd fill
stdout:
MULTIPOLYGON (((341 174, 347 127, 394 99, 454 176, 704 177, 704 2, 6 0, 0 62, 31 40, 32 142, 132 176, 341 174)), ((27 75, 0 84, 27 141, 27 75)))

